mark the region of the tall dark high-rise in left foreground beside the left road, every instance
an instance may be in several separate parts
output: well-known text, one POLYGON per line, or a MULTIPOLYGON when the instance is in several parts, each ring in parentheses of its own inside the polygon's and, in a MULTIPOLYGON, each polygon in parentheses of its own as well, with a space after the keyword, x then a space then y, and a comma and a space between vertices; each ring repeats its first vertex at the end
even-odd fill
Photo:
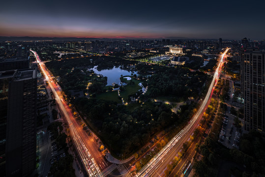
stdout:
POLYGON ((6 176, 27 177, 36 168, 36 69, 15 70, 8 84, 6 176))

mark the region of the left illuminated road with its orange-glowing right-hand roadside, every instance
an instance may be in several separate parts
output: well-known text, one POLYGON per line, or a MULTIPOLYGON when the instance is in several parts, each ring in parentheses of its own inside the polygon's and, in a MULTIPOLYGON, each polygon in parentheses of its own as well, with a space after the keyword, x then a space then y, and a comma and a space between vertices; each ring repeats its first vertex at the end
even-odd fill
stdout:
POLYGON ((74 118, 71 109, 63 99, 59 86, 53 82, 48 69, 46 69, 45 67, 45 64, 39 59, 39 56, 36 54, 36 52, 32 50, 30 50, 30 52, 34 54, 37 63, 39 64, 40 69, 45 76, 45 80, 48 82, 59 105, 59 108, 63 113, 65 119, 67 120, 76 149, 78 151, 78 154, 80 155, 80 158, 82 159, 84 166, 86 167, 87 173, 90 177, 101 177, 102 175, 100 175, 101 171, 99 166, 101 167, 101 169, 104 169, 107 164, 102 158, 99 158, 102 154, 97 150, 98 147, 95 141, 93 141, 92 138, 88 137, 85 131, 83 131, 83 127, 80 126, 80 124, 74 118), (93 157, 95 157, 96 159, 94 159, 93 157))

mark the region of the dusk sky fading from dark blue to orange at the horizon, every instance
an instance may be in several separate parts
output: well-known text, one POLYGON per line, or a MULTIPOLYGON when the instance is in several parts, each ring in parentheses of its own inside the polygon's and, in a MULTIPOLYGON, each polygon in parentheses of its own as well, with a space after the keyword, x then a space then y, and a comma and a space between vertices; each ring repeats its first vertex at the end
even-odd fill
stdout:
POLYGON ((265 39, 264 0, 4 0, 0 36, 265 39))

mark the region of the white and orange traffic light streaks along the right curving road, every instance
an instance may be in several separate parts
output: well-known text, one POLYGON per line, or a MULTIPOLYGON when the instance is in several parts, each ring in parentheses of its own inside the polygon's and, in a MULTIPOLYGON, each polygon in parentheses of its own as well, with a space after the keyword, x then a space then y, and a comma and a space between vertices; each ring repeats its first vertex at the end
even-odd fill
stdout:
MULTIPOLYGON (((181 140, 181 138, 185 138, 187 136, 189 136, 188 132, 194 128, 197 127, 197 120, 198 118, 200 118, 200 116, 204 113, 204 110, 206 109, 207 103, 211 98, 212 92, 214 90, 214 87, 217 84, 217 81, 219 79, 219 72, 220 72, 220 68, 222 68, 223 62, 224 62, 224 57, 226 55, 226 53, 229 51, 230 49, 226 49, 225 52, 222 54, 221 59, 218 63, 218 67, 215 70, 212 82, 209 86, 209 89, 207 91, 207 94, 205 96, 205 99, 202 103, 202 105, 200 106, 199 110, 195 113, 195 115, 193 116, 192 120, 190 121, 190 123, 188 125, 186 125, 179 133, 177 133, 177 135, 172 138, 170 140, 170 142, 168 142, 168 144, 162 148, 158 154, 156 154, 148 163, 147 165, 145 165, 137 174, 136 177, 148 177, 148 176, 152 176, 152 174, 156 171, 157 168, 159 168, 163 162, 164 162, 164 157, 165 155, 167 155, 168 153, 170 155, 173 154, 174 151, 171 150, 175 150, 176 147, 175 145, 178 143, 179 140, 181 140), (184 136, 185 135, 185 136, 184 136), (170 152, 171 151, 171 152, 170 152)), ((168 157, 169 158, 169 157, 168 157)), ((166 158, 166 159, 168 159, 166 158)))

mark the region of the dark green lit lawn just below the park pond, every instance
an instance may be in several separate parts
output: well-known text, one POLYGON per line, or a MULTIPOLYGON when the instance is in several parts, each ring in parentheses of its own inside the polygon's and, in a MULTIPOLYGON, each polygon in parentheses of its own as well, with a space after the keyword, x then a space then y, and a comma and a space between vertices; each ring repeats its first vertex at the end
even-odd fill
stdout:
MULTIPOLYGON (((131 76, 123 76, 123 77, 131 77, 131 76)), ((143 82, 140 80, 136 80, 133 77, 132 81, 135 83, 134 85, 127 85, 125 86, 125 90, 120 92, 120 96, 126 101, 128 102, 128 95, 137 92, 139 89, 142 89, 140 86, 138 86, 139 83, 143 82)), ((121 78, 121 81, 123 82, 130 82, 127 81, 126 79, 121 78)))

